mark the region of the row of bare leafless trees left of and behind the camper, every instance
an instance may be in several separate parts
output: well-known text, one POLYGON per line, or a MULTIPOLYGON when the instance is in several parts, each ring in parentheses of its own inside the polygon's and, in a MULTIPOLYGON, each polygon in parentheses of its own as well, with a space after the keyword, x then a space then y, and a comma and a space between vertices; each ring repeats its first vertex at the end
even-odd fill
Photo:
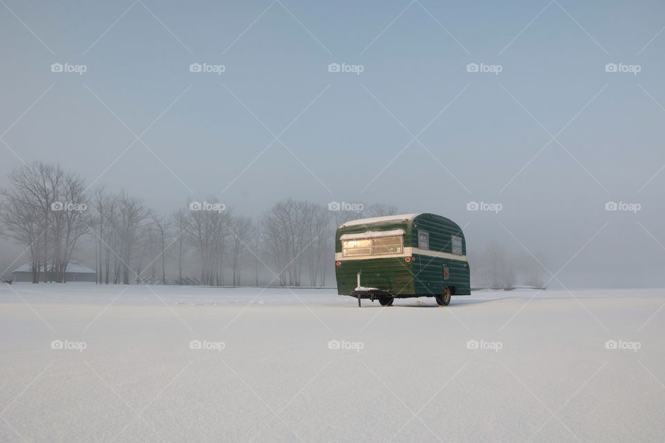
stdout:
POLYGON ((286 199, 254 220, 209 196, 164 215, 125 190, 89 190, 54 164, 35 161, 8 179, 0 190, 0 234, 25 248, 35 283, 65 282, 78 255, 89 264, 94 257, 98 284, 324 286, 335 227, 397 212, 286 199))

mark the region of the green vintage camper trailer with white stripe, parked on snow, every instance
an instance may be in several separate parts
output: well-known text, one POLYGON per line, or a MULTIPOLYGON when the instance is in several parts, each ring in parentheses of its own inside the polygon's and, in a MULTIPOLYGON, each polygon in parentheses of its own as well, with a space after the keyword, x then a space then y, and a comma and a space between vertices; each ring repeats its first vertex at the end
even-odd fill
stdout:
POLYGON ((335 234, 337 293, 390 306, 395 298, 471 293, 466 241, 457 224, 418 213, 347 221, 335 234))

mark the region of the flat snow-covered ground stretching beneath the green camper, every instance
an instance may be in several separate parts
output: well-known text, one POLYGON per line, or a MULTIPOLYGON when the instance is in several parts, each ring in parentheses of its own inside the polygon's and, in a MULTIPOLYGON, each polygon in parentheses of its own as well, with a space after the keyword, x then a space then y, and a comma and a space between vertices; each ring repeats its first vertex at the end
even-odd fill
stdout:
POLYGON ((663 442, 664 304, 2 284, 0 441, 663 442))

